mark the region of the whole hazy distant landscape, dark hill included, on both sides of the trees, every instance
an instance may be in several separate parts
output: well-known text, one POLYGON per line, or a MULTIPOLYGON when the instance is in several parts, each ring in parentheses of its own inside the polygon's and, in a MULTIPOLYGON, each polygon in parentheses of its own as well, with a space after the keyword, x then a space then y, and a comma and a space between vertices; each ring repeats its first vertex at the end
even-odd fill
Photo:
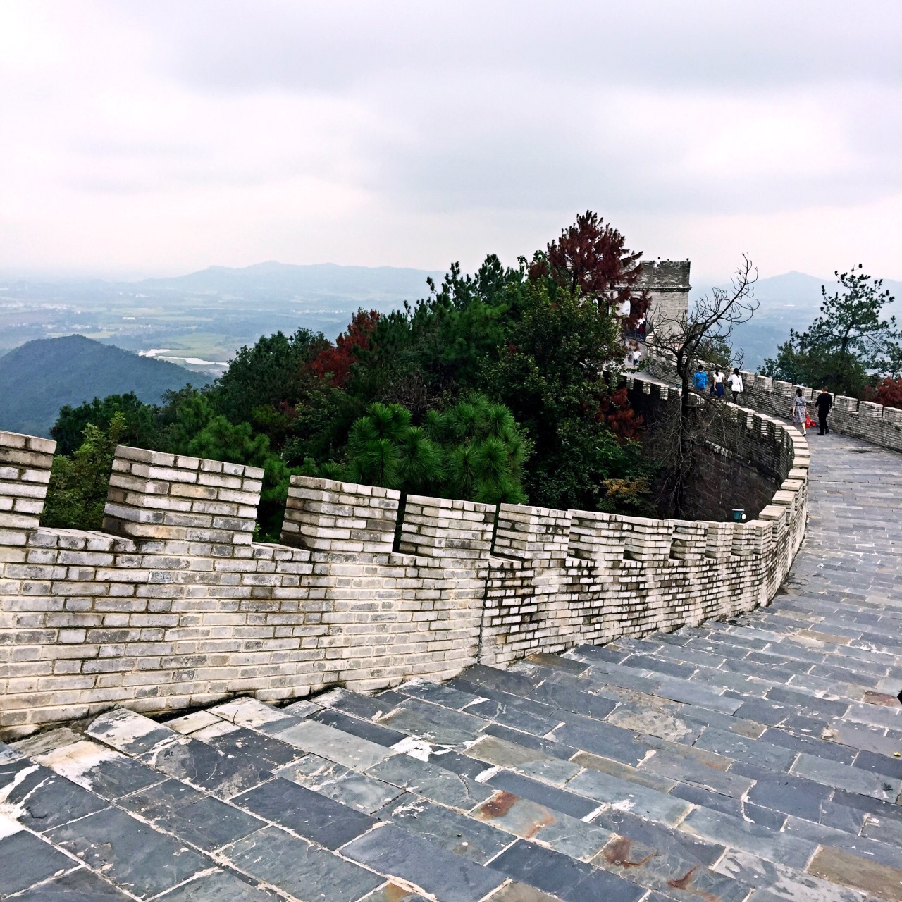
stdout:
MULTIPOLYGON (((61 405, 106 394, 134 391, 160 400, 186 382, 208 382, 238 348, 262 335, 307 327, 335 338, 357 308, 399 308, 425 297, 427 278, 440 281, 443 274, 265 262, 135 282, 0 277, 0 354, 14 348, 0 356, 0 428, 46 435, 61 405)), ((803 272, 759 280, 760 306, 732 336, 747 368, 773 356, 790 328, 808 326, 822 284, 803 272)), ((825 284, 835 290, 835 282, 825 284)), ((902 282, 884 285, 902 300, 902 282)), ((693 296, 710 290, 699 281, 693 296)))

